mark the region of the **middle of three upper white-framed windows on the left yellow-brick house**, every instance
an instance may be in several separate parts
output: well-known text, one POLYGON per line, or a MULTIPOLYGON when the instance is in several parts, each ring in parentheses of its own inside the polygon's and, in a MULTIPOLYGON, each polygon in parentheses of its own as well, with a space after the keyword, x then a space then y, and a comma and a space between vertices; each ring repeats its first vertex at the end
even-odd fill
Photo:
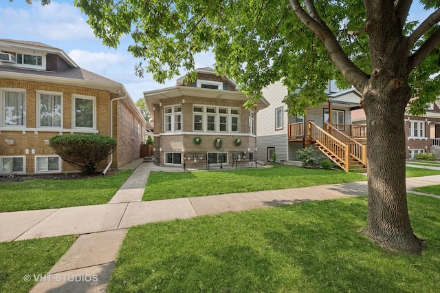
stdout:
POLYGON ((38 127, 61 127, 62 100, 61 94, 37 91, 38 127))

